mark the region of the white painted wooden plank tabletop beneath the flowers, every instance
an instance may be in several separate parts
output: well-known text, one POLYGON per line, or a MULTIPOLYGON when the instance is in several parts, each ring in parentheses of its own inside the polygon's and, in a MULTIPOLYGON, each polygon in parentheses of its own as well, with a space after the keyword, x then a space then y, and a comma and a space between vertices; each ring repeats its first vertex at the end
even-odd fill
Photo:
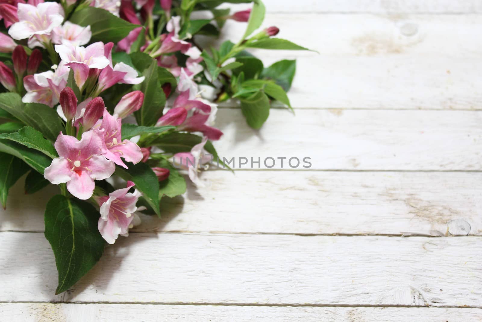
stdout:
POLYGON ((320 55, 260 53, 298 60, 296 115, 255 132, 221 109, 216 147, 312 167, 204 173, 57 296, 54 189, 17 184, 1 321, 482 321, 482 1, 265 2, 320 55))

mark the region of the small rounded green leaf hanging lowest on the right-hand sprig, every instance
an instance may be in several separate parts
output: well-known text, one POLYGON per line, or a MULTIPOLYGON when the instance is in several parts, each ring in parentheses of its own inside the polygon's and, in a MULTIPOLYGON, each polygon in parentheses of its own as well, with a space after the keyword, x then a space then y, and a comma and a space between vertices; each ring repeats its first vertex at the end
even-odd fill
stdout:
POLYGON ((269 116, 268 96, 258 92, 249 99, 241 99, 241 111, 249 126, 254 129, 261 128, 269 116))

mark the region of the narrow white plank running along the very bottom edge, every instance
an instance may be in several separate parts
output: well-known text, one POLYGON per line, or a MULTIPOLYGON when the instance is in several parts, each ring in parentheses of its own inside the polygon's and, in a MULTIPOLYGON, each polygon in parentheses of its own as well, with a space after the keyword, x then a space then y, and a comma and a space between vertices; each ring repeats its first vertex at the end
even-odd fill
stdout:
POLYGON ((239 307, 135 304, 4 303, 2 318, 10 322, 85 321, 306 321, 306 322, 478 322, 479 308, 319 308, 239 307))

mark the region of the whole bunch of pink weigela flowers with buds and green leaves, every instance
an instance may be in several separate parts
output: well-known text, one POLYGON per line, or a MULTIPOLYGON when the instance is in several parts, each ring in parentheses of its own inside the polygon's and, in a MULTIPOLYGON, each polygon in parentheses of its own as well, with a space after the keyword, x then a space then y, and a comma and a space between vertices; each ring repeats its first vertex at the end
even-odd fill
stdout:
POLYGON ((291 108, 295 61, 265 68, 246 50, 306 48, 276 27, 255 33, 264 15, 260 0, 0 0, 0 199, 25 174, 27 194, 59 186, 45 210, 56 294, 128 235, 138 211, 160 216, 162 198, 186 191, 183 174, 201 186, 203 165, 223 164, 216 103, 239 100, 253 128, 271 101, 291 108), (226 2, 254 3, 231 14, 226 2), (239 42, 195 42, 227 19, 247 23, 239 42))

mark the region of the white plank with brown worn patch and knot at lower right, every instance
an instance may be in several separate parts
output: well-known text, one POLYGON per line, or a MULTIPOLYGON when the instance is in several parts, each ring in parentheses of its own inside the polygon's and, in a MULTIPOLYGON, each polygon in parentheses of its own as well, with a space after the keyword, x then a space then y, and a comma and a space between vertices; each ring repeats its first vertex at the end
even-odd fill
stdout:
MULTIPOLYGON (((482 235, 482 173, 210 171, 204 189, 142 215, 134 232, 482 235)), ((43 231, 54 187, 25 202, 20 180, 0 230, 43 231)))

